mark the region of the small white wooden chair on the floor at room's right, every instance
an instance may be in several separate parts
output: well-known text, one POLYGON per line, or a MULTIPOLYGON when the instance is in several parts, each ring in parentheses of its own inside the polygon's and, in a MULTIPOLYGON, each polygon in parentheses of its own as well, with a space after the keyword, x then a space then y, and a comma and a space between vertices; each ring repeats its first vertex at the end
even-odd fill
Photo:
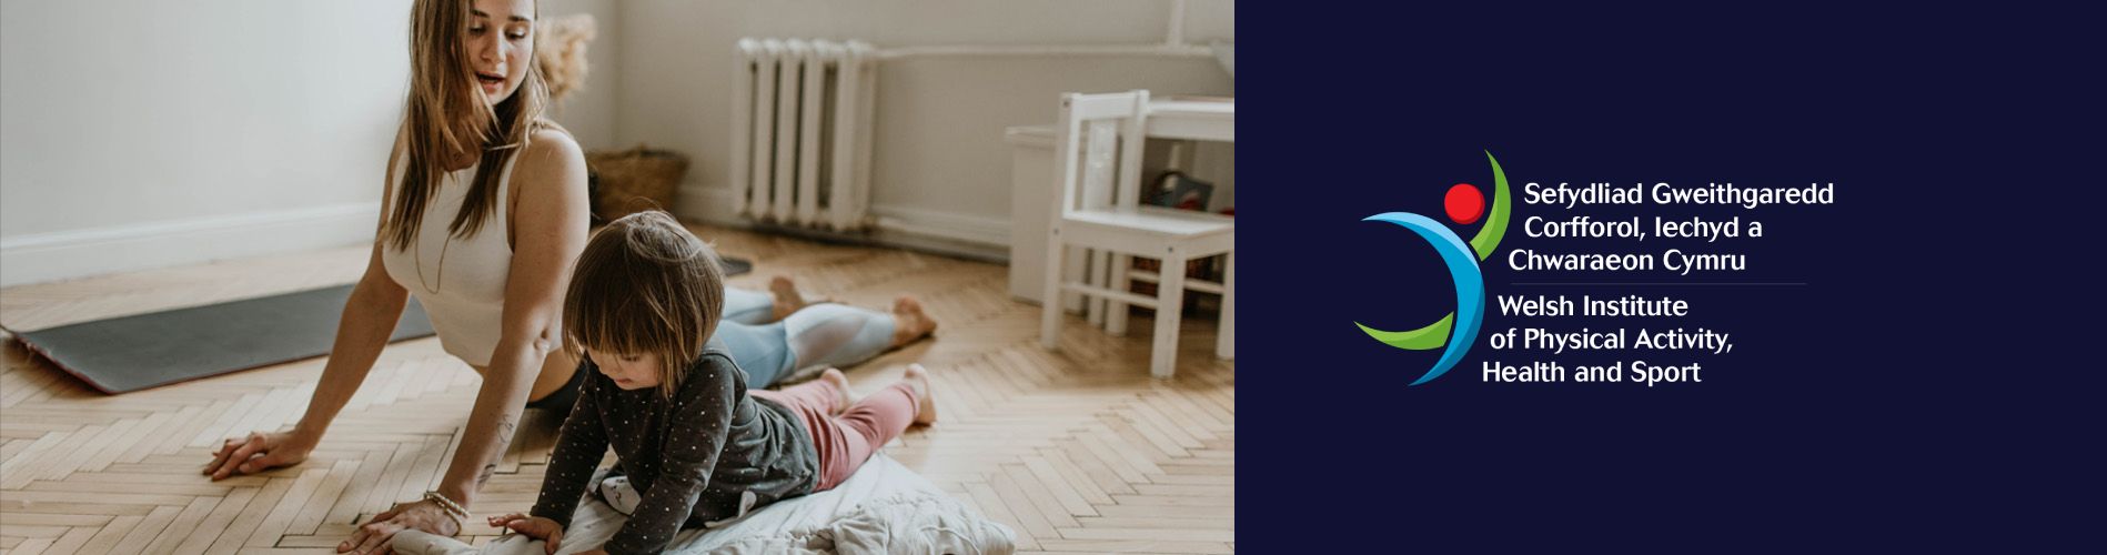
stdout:
MULTIPOLYGON (((1157 310, 1148 374, 1171 378, 1178 359, 1178 317, 1186 289, 1222 293, 1222 327, 1214 350, 1216 357, 1235 359, 1237 224, 1235 217, 1226 215, 1138 203, 1146 118, 1148 91, 1062 95, 1060 127, 1054 131, 1054 162, 1058 165, 1054 190, 1060 196, 1054 203, 1047 234, 1039 342, 1045 348, 1060 348, 1064 291, 1085 300, 1102 300, 1108 312, 1106 331, 1115 336, 1125 333, 1127 304, 1148 306, 1157 310), (1110 257, 1106 287, 1064 276, 1062 257, 1070 245, 1117 253, 1110 257), (1134 255, 1163 262, 1155 274, 1155 298, 1129 293, 1127 283, 1134 272, 1127 266, 1134 255), (1212 255, 1224 255, 1222 283, 1188 281, 1186 262, 1212 255)), ((1091 268, 1091 274, 1100 274, 1098 268, 1091 268)))

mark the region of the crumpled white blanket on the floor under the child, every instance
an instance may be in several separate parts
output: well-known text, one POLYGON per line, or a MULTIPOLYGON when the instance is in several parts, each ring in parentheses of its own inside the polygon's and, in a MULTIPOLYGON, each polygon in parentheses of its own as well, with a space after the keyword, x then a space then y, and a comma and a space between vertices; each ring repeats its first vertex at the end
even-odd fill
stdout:
MULTIPOLYGON (((575 553, 613 538, 628 517, 588 496, 563 534, 575 553)), ((483 551, 453 538, 402 532, 400 553, 544 553, 541 542, 506 536, 483 551)), ((706 530, 683 530, 666 553, 1011 553, 1016 532, 946 496, 889 456, 872 456, 839 487, 782 500, 706 530)))

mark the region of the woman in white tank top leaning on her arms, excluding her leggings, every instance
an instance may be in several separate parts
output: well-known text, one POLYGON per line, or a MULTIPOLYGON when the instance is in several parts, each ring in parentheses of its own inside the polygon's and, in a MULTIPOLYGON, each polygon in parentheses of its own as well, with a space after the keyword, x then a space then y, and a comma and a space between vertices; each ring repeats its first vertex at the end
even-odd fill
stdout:
POLYGON ((438 490, 375 515, 337 551, 375 551, 409 528, 457 534, 527 401, 567 409, 565 393, 575 390, 577 361, 558 348, 558 317, 586 245, 586 160, 575 139, 541 120, 535 15, 531 0, 415 2, 379 236, 320 384, 293 430, 228 439, 204 468, 225 479, 306 460, 417 295, 445 350, 483 386, 438 490))

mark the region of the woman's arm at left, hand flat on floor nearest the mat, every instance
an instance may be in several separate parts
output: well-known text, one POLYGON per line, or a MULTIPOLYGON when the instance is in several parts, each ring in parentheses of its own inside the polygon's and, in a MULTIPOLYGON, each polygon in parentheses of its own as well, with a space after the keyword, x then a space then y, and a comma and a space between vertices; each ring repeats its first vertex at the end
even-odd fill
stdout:
MULTIPOLYGON (((398 156, 402 156, 400 137, 388 154, 383 179, 394 179, 392 173, 398 156)), ((386 230, 390 200, 392 188, 381 184, 381 224, 377 226, 381 230, 386 230)), ((299 464, 308 460, 316 443, 322 443, 322 433, 337 420, 337 412, 343 412, 343 403, 350 403, 352 395, 358 393, 358 384, 367 382, 373 361, 381 357, 388 336, 394 333, 396 321, 402 319, 402 308, 409 304, 409 289, 388 279, 388 268, 381 266, 383 236, 386 232, 375 232, 367 272, 358 276, 352 298, 343 302, 343 317, 337 319, 337 340, 329 348, 329 363, 322 365, 322 382, 314 386, 306 416, 299 418, 299 424, 291 433, 259 430, 228 439, 213 454, 213 462, 204 464, 206 475, 225 479, 230 475, 299 464)))

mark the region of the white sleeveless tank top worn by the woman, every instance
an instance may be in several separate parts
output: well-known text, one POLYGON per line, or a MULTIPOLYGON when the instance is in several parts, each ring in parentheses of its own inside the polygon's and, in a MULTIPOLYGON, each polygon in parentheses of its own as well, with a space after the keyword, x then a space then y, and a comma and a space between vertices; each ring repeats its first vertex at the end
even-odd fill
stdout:
MULTIPOLYGON (((424 304, 424 312, 432 317, 432 329, 438 331, 440 348, 476 367, 491 365, 491 355, 497 352, 497 338, 504 331, 506 276, 512 274, 512 243, 506 228, 510 222, 506 207, 512 196, 506 192, 512 184, 514 160, 518 156, 506 158, 504 171, 497 173, 497 209, 476 234, 461 238, 453 236, 449 228, 461 211, 461 200, 468 198, 480 162, 440 177, 438 196, 424 207, 424 222, 417 226, 417 241, 411 249, 398 251, 386 243, 381 247, 381 266, 396 285, 409 289, 424 304)), ((407 165, 409 156, 396 165, 390 198, 400 198, 407 165)))

